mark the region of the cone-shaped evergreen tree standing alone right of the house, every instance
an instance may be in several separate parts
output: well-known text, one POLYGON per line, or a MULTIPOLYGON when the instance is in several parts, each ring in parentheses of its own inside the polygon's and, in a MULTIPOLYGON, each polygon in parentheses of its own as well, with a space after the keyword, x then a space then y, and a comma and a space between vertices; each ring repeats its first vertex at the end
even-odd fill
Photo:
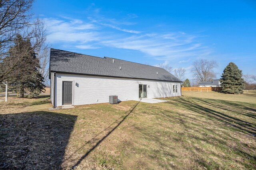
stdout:
POLYGON ((242 78, 242 70, 239 70, 235 63, 230 62, 222 73, 220 83, 222 86, 222 93, 242 94, 245 88, 245 81, 242 78))

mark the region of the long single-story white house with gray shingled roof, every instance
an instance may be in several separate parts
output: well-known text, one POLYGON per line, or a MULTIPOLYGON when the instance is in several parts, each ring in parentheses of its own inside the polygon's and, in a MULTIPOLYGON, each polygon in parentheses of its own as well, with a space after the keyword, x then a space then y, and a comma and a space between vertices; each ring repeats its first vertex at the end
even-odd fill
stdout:
POLYGON ((50 51, 54 107, 181 95, 181 81, 163 68, 58 49, 50 51))

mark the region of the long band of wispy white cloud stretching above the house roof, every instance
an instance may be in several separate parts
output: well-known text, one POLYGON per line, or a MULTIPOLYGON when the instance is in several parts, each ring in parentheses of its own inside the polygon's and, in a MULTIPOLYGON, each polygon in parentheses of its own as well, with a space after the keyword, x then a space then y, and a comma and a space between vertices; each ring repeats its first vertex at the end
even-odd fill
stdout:
MULTIPOLYGON (((204 57, 212 53, 209 47, 198 41, 200 35, 182 31, 156 33, 125 29, 116 19, 102 17, 99 20, 98 15, 95 18, 90 16, 86 20, 65 16, 44 18, 50 34, 48 40, 51 43, 69 43, 68 45, 78 49, 114 47, 136 50, 159 61, 204 57)), ((128 18, 137 17, 128 15, 128 18)), ((190 59, 180 60, 178 63, 189 62, 190 59)))

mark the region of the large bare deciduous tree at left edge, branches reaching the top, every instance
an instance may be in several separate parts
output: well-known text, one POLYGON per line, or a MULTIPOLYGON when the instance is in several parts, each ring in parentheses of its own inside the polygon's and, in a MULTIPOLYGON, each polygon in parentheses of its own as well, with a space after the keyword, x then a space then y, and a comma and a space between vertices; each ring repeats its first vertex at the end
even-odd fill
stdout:
POLYGON ((8 75, 14 70, 18 71, 16 67, 27 53, 40 51, 46 41, 44 22, 38 18, 30 21, 32 2, 33 0, 0 0, 0 82, 8 79, 8 75), (30 41, 32 48, 17 53, 14 60, 3 63, 17 34, 30 41))

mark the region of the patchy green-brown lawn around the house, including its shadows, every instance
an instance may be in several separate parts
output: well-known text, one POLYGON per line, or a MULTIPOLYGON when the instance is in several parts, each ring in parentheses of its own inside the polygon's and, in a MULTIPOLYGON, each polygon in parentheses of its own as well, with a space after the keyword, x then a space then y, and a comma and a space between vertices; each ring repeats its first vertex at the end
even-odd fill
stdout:
POLYGON ((48 96, 0 102, 0 167, 256 169, 256 92, 182 92, 169 102, 49 111, 48 96))

